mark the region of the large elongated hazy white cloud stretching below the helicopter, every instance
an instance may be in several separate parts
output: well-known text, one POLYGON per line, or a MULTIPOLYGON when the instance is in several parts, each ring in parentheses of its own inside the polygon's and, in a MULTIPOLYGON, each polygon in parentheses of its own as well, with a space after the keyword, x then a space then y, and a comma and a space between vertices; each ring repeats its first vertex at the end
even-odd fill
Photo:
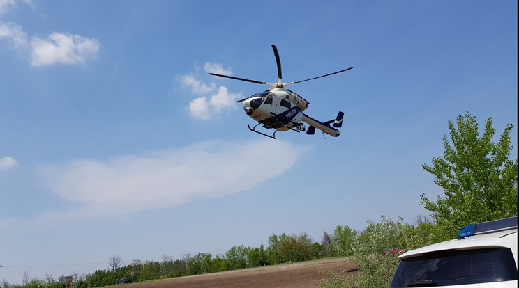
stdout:
POLYGON ((46 166, 41 170, 45 186, 81 208, 50 212, 35 221, 52 222, 63 213, 67 218, 131 214, 246 191, 285 173, 304 152, 306 147, 271 139, 205 141, 176 150, 46 166), (267 146, 269 157, 251 153, 267 146))

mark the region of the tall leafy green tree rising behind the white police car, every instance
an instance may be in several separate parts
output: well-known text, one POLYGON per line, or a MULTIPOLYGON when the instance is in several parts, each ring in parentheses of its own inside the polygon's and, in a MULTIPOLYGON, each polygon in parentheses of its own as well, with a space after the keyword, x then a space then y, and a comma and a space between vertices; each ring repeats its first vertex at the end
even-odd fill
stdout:
POLYGON ((456 126, 449 120, 451 142, 444 135, 444 156, 433 157, 432 165, 423 164, 445 193, 436 201, 421 194, 421 205, 437 223, 439 241, 456 237, 463 225, 517 215, 517 159, 509 159, 513 124, 506 125, 493 143, 492 118, 486 120, 481 137, 476 118, 468 111, 457 120, 456 126))

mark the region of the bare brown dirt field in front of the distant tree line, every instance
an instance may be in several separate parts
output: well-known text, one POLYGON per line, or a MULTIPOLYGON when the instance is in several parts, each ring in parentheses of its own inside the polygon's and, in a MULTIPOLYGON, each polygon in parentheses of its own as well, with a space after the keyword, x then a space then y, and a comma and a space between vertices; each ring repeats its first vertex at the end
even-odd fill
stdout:
POLYGON ((347 271, 355 275, 358 267, 347 258, 297 262, 276 266, 256 267, 243 270, 225 271, 195 275, 153 282, 133 283, 125 288, 242 288, 242 287, 318 287, 315 282, 327 279, 322 270, 347 271))

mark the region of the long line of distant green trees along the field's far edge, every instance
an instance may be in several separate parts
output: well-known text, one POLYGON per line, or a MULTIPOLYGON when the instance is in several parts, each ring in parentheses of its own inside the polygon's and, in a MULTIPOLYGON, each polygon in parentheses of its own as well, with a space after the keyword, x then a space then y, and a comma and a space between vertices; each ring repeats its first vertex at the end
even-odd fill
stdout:
MULTIPOLYGON (((384 219, 384 217, 383 217, 384 219)), ((400 224, 407 230, 414 231, 412 225, 400 224)), ((369 227, 369 226, 368 226, 369 227)), ((426 236, 426 232, 422 236, 426 236)), ((130 264, 123 264, 119 255, 112 255, 108 260, 107 269, 96 270, 86 275, 73 275, 72 285, 77 288, 104 287, 114 285, 121 278, 128 278, 133 282, 176 278, 187 275, 199 275, 236 269, 253 268, 282 264, 287 262, 301 262, 323 257, 345 257, 353 255, 353 246, 356 241, 363 240, 364 233, 356 232, 348 226, 337 226, 333 232, 323 232, 322 241, 313 241, 308 234, 272 234, 269 245, 259 247, 232 246, 224 253, 197 253, 186 254, 180 259, 165 255, 162 261, 133 260, 130 264)), ((401 234, 402 246, 405 235, 401 234)), ((423 238, 425 239, 425 238, 423 238)), ((425 241, 423 243, 429 243, 425 241)), ((418 243, 414 243, 419 245, 418 243)), ((388 247, 380 247, 380 253, 388 247)), ((65 288, 52 275, 45 279, 29 279, 24 275, 23 285, 9 285, 5 280, 1 282, 3 288, 65 288)), ((70 286, 70 285, 69 285, 70 286)))

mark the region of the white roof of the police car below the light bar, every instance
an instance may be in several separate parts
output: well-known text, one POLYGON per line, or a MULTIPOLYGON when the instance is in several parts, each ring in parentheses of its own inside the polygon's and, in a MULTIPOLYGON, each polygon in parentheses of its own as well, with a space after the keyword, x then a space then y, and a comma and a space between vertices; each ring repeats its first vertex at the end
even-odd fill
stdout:
MULTIPOLYGON (((487 234, 478 234, 462 239, 454 239, 407 251, 399 256, 400 259, 418 257, 424 253, 442 250, 472 250, 477 248, 517 248, 517 227, 487 234), (513 239, 515 237, 515 240, 513 239)), ((513 251, 517 259, 517 251, 513 251)))

